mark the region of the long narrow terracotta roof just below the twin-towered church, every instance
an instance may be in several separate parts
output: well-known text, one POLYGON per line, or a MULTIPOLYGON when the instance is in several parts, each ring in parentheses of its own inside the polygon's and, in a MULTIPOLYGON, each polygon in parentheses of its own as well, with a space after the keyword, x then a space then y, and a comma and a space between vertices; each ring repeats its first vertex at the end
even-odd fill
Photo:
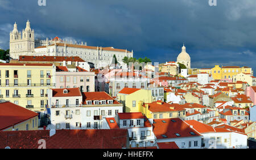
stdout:
POLYGON ((85 62, 85 60, 80 57, 64 57, 64 56, 33 56, 33 55, 20 55, 19 61, 34 61, 34 62, 85 62))

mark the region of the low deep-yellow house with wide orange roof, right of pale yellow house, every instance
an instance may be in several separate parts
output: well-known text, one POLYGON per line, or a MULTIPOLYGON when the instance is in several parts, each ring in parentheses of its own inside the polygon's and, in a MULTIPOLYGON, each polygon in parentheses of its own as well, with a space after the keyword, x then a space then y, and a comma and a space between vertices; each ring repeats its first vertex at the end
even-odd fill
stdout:
POLYGON ((152 103, 139 102, 141 113, 149 119, 185 118, 186 110, 182 105, 169 104, 163 101, 152 103))

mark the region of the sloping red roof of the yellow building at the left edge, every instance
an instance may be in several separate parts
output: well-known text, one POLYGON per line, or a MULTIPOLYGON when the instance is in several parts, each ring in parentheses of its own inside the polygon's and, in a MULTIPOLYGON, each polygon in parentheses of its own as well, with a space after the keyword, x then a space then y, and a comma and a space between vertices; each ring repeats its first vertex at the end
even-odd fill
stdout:
POLYGON ((0 103, 0 131, 38 116, 38 113, 11 102, 0 103))

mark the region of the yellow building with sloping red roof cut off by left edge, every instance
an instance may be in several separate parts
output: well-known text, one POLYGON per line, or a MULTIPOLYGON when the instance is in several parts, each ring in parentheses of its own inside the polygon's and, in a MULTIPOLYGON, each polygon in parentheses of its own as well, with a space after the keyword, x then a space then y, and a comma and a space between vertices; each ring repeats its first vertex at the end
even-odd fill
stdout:
POLYGON ((38 130, 38 113, 0 100, 0 131, 38 130))

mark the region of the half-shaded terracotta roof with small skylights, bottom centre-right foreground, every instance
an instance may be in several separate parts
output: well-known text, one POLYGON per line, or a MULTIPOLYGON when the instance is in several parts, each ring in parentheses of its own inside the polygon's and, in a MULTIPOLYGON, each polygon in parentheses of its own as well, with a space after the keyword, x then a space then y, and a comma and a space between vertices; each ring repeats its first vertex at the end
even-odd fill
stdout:
POLYGON ((156 139, 201 136, 200 133, 189 127, 189 125, 180 118, 154 119, 153 126, 156 139))

